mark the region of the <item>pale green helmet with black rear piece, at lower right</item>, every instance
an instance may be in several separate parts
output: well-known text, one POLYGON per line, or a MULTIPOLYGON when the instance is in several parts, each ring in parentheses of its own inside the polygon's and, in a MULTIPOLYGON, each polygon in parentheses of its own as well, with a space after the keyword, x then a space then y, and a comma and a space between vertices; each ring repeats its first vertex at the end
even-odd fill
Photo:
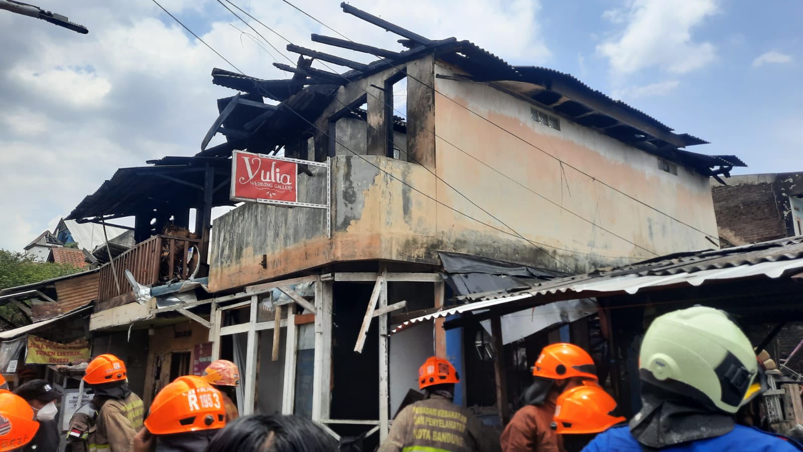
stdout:
POLYGON ((655 318, 639 355, 642 380, 726 413, 747 403, 758 362, 722 310, 694 306, 655 318))

